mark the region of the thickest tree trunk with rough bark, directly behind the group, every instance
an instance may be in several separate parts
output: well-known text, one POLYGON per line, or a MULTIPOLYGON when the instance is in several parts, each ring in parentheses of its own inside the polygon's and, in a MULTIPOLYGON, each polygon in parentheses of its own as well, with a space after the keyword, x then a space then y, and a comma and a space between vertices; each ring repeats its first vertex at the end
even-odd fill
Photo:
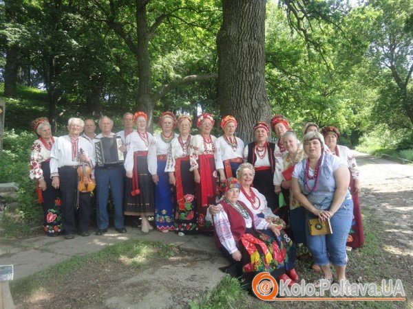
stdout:
POLYGON ((265 88, 265 0, 222 0, 217 37, 218 102, 223 115, 234 115, 237 135, 254 138, 256 122, 269 122, 265 88))

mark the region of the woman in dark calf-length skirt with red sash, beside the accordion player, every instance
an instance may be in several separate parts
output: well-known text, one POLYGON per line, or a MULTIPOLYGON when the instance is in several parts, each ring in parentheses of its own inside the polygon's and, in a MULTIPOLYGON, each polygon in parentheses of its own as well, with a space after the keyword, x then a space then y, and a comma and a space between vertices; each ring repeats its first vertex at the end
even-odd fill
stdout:
POLYGON ((127 135, 127 155, 125 159, 126 176, 129 181, 125 190, 125 215, 142 218, 142 232, 153 229, 147 216, 153 216, 153 181, 149 174, 147 153, 153 136, 147 133, 148 116, 142 111, 134 114, 137 130, 127 135))

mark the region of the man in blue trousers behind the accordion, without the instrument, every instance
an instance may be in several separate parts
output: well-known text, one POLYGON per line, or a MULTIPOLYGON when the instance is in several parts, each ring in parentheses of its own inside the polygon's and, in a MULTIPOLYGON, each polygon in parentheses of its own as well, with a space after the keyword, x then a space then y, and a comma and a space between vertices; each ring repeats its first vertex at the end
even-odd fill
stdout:
MULTIPOLYGON (((102 133, 96 135, 92 144, 98 142, 102 138, 114 138, 112 133, 114 122, 109 117, 102 117, 99 120, 99 128, 102 133)), ((123 164, 106 164, 96 166, 96 221, 98 230, 96 235, 100 236, 107 232, 109 226, 109 216, 107 214, 107 198, 109 197, 109 186, 114 199, 114 221, 115 229, 118 233, 126 233, 123 223, 123 194, 125 169, 123 164)))

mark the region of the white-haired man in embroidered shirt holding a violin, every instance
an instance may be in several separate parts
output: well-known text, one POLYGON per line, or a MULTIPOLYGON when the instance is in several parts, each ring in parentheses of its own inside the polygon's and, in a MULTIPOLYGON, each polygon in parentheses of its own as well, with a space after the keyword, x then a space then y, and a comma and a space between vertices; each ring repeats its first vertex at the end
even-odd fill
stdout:
POLYGON ((60 188, 62 193, 65 239, 74 238, 75 207, 78 208, 78 233, 89 236, 90 192, 94 189, 90 176, 96 155, 92 144, 80 136, 84 126, 82 119, 70 118, 67 122, 69 134, 56 139, 50 153, 52 186, 60 188))

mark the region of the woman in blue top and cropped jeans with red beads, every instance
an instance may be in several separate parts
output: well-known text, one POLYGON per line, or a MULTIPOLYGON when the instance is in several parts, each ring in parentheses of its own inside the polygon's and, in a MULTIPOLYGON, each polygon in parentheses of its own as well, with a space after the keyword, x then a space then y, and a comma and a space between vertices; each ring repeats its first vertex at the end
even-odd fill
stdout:
MULTIPOLYGON (((306 238, 315 263, 321 267, 324 278, 333 282, 330 263, 337 279, 346 280, 346 239, 352 221, 352 198, 348 191, 350 172, 346 162, 324 153, 323 135, 316 132, 304 136, 304 151, 308 159, 297 163, 291 185, 297 201, 306 207, 306 238), (332 233, 310 235, 308 220, 330 220, 332 233)), ((315 282, 320 285, 320 280, 315 282)))

